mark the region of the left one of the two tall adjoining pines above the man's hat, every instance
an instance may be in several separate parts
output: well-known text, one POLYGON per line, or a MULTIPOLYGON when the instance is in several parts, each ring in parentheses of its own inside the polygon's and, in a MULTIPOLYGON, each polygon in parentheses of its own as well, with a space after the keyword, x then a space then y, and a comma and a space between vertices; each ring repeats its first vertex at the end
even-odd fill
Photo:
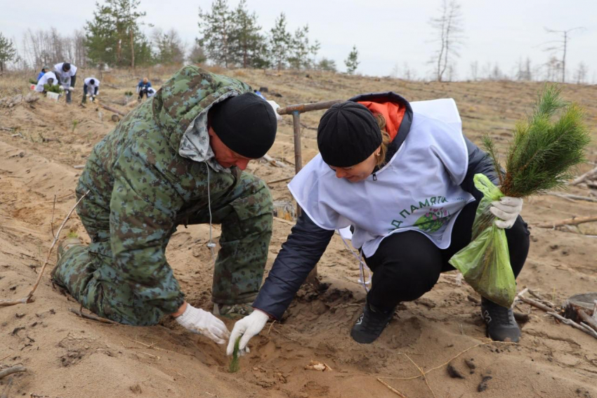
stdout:
POLYGON ((204 48, 207 58, 224 67, 234 64, 232 38, 235 37, 234 13, 228 8, 228 0, 214 0, 211 12, 199 8, 199 46, 204 48))

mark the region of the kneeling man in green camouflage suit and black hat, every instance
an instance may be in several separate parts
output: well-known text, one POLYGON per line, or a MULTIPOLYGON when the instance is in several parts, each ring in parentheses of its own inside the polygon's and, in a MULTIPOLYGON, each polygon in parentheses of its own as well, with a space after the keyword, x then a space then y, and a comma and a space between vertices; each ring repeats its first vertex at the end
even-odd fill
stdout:
POLYGON ((250 308, 273 205, 265 183, 241 170, 275 131, 272 106, 247 84, 183 67, 93 148, 76 190, 89 191, 77 213, 91 244, 63 242, 54 281, 107 319, 145 326, 173 314, 223 342, 223 322, 185 302, 166 246, 178 225, 221 224, 212 300, 221 314, 250 308))

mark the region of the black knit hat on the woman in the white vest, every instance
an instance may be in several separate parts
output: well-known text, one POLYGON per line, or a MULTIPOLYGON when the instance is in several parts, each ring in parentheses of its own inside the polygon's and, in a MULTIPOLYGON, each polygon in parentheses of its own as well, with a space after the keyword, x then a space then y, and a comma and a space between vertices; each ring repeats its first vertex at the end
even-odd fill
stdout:
POLYGON ((381 145, 381 131, 367 107, 346 101, 332 105, 317 127, 317 147, 330 166, 349 167, 381 145))

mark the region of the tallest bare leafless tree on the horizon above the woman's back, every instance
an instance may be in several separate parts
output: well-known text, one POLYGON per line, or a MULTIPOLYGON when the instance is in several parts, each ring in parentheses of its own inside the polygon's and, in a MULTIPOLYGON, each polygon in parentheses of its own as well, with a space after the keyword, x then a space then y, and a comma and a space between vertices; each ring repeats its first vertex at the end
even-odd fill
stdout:
POLYGON ((464 26, 461 6, 456 0, 442 0, 439 11, 440 16, 429 21, 437 35, 434 41, 440 44, 430 62, 435 65, 435 78, 442 81, 452 58, 460 56, 458 48, 464 42, 464 26))

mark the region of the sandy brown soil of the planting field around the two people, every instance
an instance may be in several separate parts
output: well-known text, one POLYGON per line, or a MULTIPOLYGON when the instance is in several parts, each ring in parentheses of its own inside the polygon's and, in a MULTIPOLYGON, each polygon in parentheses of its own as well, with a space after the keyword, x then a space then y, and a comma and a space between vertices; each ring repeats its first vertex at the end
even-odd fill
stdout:
MULTIPOLYGON (((155 86, 171 70, 138 74, 114 72, 100 77, 100 100, 123 112, 124 92, 149 74, 155 86), (110 84, 112 87, 107 86, 110 84)), ((85 76, 95 71, 81 71, 85 76)), ((346 77, 336 74, 229 71, 258 88, 268 86, 280 105, 349 98, 357 93, 395 91, 409 100, 453 97, 461 111, 464 131, 478 141, 489 132, 500 142, 510 137, 515 121, 530 110, 539 84, 471 82, 429 84, 395 79, 346 77), (282 95, 275 97, 274 93, 282 95)), ((98 75, 96 75, 98 76, 98 75)), ((99 76, 98 76, 99 77, 99 76)), ((19 74, 0 77, 0 98, 27 93, 19 74)), ((586 107, 595 126, 595 87, 566 86, 565 96, 586 107)), ((77 168, 93 144, 114 128, 112 113, 88 105, 41 98, 28 104, 0 107, 0 298, 25 296, 37 278, 54 230, 74 204, 77 168), (75 124, 74 121, 77 121, 75 124)), ((322 112, 303 114, 303 159, 317 153, 315 128, 322 112)), ((596 130, 593 127, 593 133, 596 130)), ((593 145, 589 159, 597 161, 593 145)), ((270 155, 285 167, 265 161, 249 165, 265 181, 293 175, 291 119, 284 117, 270 155)), ((588 165, 583 171, 593 166, 588 165)), ((276 200, 288 200, 284 183, 270 185, 276 200)), ((586 187, 572 193, 588 195, 586 187)), ((573 216, 596 215, 597 204, 542 196, 526 201, 523 216, 532 229, 532 246, 519 287, 540 291, 557 305, 575 293, 597 291, 596 225, 578 231, 533 227, 537 223, 573 216)), ((275 219, 268 268, 289 234, 291 222, 275 219)), ((87 239, 74 216, 67 230, 87 239)), ((216 236, 218 235, 216 231, 216 236)), ((181 227, 167 256, 193 305, 211 309, 211 258, 204 225, 181 227)), ((51 265, 55 255, 51 256, 51 265)), ((319 264, 320 291, 301 290, 282 323, 268 325, 251 340, 251 354, 241 370, 228 373, 224 348, 188 333, 171 319, 154 327, 100 324, 69 312, 79 305, 51 285, 49 272, 41 279, 34 303, 0 307, 0 366, 23 364, 27 372, 14 376, 9 397, 398 397, 377 378, 412 397, 597 397, 597 341, 530 312, 521 325, 520 344, 487 343, 476 296, 458 284, 454 272, 444 274, 433 291, 400 306, 381 338, 372 345, 350 339, 350 326, 359 314, 365 292, 357 284, 358 266, 339 237, 334 237, 319 264), (452 360, 464 378, 452 378, 444 366, 452 360), (332 371, 309 371, 310 361, 332 371), (466 365, 474 364, 475 369, 466 365), (416 364, 416 365, 415 365, 416 364), (426 380, 413 378, 429 371, 426 380), (431 370, 430 370, 431 369, 431 370), (478 392, 484 376, 487 390, 478 392), (411 378, 400 380, 400 378, 411 378), (427 384, 428 383, 428 384, 427 384), (32 395, 33 394, 33 395, 32 395)), ((232 321, 228 321, 232 328, 232 321)), ((7 378, 1 381, 4 389, 7 378)))

